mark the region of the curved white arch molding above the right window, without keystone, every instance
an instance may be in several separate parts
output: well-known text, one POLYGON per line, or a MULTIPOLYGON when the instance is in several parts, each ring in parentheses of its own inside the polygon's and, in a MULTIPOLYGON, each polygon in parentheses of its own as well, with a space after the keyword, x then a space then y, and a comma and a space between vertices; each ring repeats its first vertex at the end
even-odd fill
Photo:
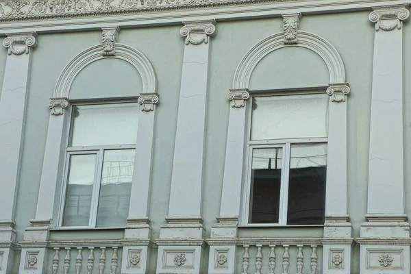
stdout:
POLYGON ((325 38, 310 32, 298 31, 298 44, 284 45, 284 33, 279 32, 258 42, 238 64, 234 73, 233 89, 249 88, 251 73, 257 64, 269 53, 283 47, 303 47, 318 54, 329 71, 329 84, 345 82, 345 67, 337 49, 325 38))

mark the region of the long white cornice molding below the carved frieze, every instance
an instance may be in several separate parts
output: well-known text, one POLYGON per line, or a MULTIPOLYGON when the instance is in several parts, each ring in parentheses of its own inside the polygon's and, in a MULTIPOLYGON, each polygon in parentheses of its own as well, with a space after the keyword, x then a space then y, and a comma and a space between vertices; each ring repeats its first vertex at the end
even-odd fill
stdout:
MULTIPOLYGON (((281 16, 284 13, 323 14, 332 12, 352 12, 371 10, 382 5, 400 5, 411 3, 410 0, 308 0, 308 1, 225 1, 224 3, 192 3, 171 8, 152 6, 140 10, 105 10, 101 12, 60 13, 43 16, 34 21, 25 12, 14 21, 2 21, 0 34, 10 32, 62 32, 98 29, 101 27, 142 27, 155 25, 175 25, 182 21, 242 20, 247 18, 267 18, 281 16), (207 6, 208 8, 204 8, 207 6), (222 8, 223 7, 223 8, 222 8), (67 17, 70 19, 68 20, 67 17), (18 19, 18 20, 16 20, 18 19)), ((28 6, 26 7, 28 8, 28 6)), ((22 11, 25 11, 25 8, 22 11)), ((36 10, 36 9, 34 9, 36 10)), ((72 9, 74 10, 74 9, 72 9)))

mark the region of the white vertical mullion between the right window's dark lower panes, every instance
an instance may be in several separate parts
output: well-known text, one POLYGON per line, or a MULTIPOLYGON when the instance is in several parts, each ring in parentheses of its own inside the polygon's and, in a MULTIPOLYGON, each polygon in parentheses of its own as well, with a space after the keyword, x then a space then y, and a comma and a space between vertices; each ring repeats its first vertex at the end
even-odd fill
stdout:
POLYGON ((283 164, 282 164, 282 175, 281 175, 281 188, 280 188, 280 199, 279 199, 279 224, 287 224, 287 213, 288 213, 288 177, 290 174, 290 143, 286 143, 283 151, 283 164))

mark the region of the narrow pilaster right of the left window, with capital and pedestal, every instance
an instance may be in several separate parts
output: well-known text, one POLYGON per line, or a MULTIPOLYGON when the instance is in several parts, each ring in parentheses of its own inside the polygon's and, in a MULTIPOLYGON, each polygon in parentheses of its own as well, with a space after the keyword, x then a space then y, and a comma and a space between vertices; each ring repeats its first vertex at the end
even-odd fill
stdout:
POLYGON ((125 227, 123 263, 121 273, 147 273, 151 253, 151 226, 149 197, 151 163, 155 127, 155 108, 159 103, 157 93, 142 93, 138 97, 141 112, 138 115, 136 155, 130 195, 129 217, 125 227), (136 264, 130 264, 130 260, 136 264))

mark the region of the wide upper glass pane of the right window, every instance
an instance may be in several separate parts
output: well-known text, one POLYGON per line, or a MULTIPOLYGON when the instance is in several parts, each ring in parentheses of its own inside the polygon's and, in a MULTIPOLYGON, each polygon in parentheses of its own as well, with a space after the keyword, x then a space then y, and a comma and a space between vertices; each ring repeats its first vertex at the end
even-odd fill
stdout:
POLYGON ((328 95, 254 97, 251 140, 327 137, 328 95))

